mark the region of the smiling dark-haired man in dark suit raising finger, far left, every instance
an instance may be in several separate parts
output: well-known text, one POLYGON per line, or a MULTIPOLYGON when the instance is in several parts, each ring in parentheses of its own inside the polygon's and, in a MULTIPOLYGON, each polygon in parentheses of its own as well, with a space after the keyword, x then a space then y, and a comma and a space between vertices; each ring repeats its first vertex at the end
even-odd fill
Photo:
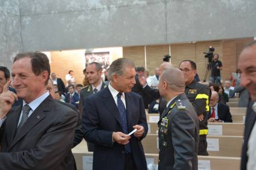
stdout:
POLYGON ((50 74, 44 53, 20 53, 14 58, 12 86, 0 95, 0 169, 70 169, 77 116, 56 103, 46 90, 50 74), (23 105, 11 108, 18 97, 23 105), (11 109, 10 109, 11 108, 11 109))

